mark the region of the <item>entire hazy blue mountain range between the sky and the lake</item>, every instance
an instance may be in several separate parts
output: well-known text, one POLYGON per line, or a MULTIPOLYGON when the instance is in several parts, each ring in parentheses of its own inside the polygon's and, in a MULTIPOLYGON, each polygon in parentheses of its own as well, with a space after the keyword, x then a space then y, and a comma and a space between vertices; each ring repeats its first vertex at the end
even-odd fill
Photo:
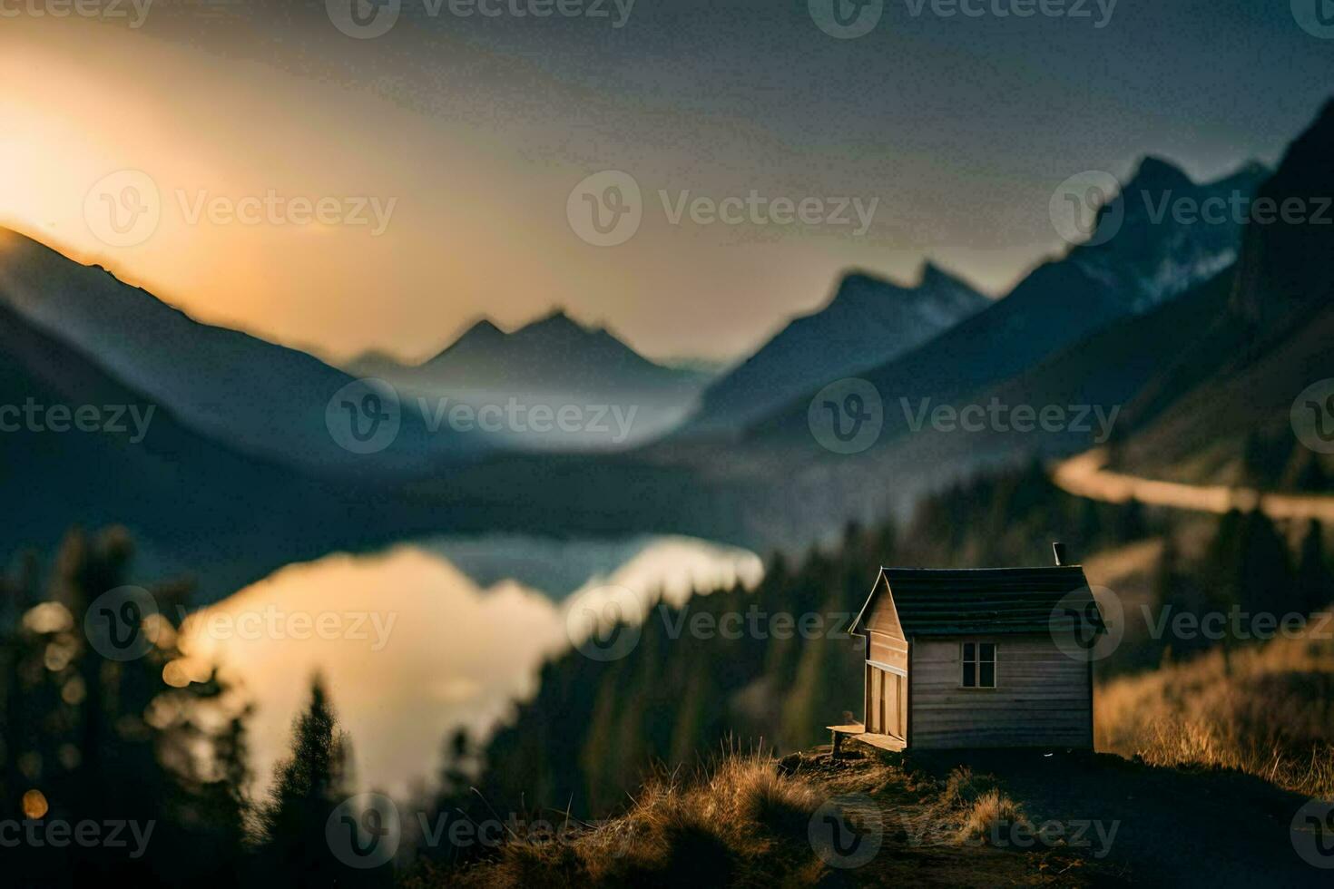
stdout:
POLYGON ((655 365, 559 312, 512 333, 479 323, 416 368, 356 364, 355 373, 403 387, 398 440, 382 454, 356 454, 327 427, 350 373, 200 324, 104 269, 0 233, 0 405, 157 408, 137 444, 95 433, 0 436, 0 496, 28 517, 24 540, 9 545, 49 541, 75 521, 124 521, 161 564, 216 572, 224 584, 293 553, 470 528, 806 546, 990 462, 1094 444, 1070 429, 914 431, 900 399, 1117 407, 1111 444, 1127 469, 1227 477, 1253 433, 1282 437, 1297 393, 1334 377, 1331 232, 1183 223, 1155 216, 1157 197, 1141 197, 1329 196, 1331 109, 1273 176, 1247 165, 1197 184, 1165 161, 1143 161, 1122 189, 1123 207, 1099 217, 1099 233, 1115 221, 1114 235, 1043 263, 999 300, 931 267, 911 288, 848 275, 824 309, 708 385, 690 425, 620 453, 498 448, 507 443, 432 428, 414 393, 450 387, 455 399, 462 391, 615 403, 658 392, 662 404, 688 409, 707 376, 655 365), (766 373, 780 403, 752 412, 746 393, 763 400, 766 373), (814 441, 807 405, 831 377, 848 375, 876 387, 886 423, 864 453, 834 454, 814 441), (739 428, 728 425, 734 417, 739 428))

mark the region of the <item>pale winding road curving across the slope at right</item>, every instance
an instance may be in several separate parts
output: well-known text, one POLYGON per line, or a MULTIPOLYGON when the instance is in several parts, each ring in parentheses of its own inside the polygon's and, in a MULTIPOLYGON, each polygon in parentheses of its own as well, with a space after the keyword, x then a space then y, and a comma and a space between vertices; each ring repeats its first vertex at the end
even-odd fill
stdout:
POLYGON ((1111 472, 1103 468, 1105 461, 1106 453, 1102 450, 1082 453, 1057 466, 1053 480, 1067 493, 1105 502, 1135 500, 1147 506, 1171 506, 1217 514, 1233 508, 1243 512, 1259 508, 1270 518, 1334 521, 1331 496, 1275 494, 1261 493, 1251 488, 1158 481, 1111 472))

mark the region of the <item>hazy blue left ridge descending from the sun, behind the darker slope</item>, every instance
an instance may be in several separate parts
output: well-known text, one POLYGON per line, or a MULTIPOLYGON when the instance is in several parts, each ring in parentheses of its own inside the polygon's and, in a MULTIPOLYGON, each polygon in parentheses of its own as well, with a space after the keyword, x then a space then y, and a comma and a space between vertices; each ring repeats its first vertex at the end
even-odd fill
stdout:
POLYGON ((394 445, 354 453, 327 425, 331 400, 354 384, 347 373, 305 352, 196 321, 101 267, 81 265, 5 229, 0 305, 183 424, 256 457, 331 476, 402 477, 456 464, 486 446, 478 437, 430 428, 404 399, 394 445))

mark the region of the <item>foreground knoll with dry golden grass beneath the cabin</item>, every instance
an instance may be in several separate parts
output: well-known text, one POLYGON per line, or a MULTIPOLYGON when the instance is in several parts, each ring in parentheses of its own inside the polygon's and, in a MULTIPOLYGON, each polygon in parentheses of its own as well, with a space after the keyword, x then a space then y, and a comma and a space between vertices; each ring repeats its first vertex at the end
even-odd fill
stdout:
POLYGON ((1106 754, 826 746, 652 780, 624 816, 412 885, 1322 886, 1290 834, 1305 802, 1106 754))

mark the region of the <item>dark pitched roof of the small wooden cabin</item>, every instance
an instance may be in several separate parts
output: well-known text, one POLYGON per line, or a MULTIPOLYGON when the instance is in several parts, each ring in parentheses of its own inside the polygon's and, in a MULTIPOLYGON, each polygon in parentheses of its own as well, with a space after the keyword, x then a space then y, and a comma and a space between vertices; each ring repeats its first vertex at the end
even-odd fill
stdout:
POLYGON ((903 636, 963 636, 1049 633, 1066 621, 1065 606, 1079 609, 1095 629, 1106 632, 1093 590, 1079 565, 1043 568, 882 568, 875 588, 852 621, 864 634, 864 621, 876 600, 888 594, 903 636), (1067 598, 1069 597, 1069 598, 1067 598), (1087 605, 1093 604, 1091 609, 1087 605), (1062 608, 1058 612, 1058 605, 1062 608), (1087 610, 1085 610, 1087 609, 1087 610))

